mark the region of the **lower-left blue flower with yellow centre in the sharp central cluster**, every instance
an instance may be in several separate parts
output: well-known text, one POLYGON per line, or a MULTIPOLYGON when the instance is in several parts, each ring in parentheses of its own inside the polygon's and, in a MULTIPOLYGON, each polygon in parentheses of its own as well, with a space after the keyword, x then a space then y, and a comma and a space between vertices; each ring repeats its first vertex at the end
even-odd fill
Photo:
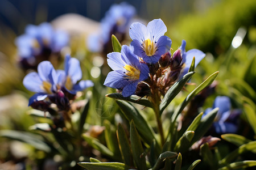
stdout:
POLYGON ((148 66, 139 62, 138 56, 127 45, 122 46, 121 53, 108 54, 108 65, 114 71, 108 74, 104 85, 122 90, 124 97, 133 95, 138 83, 148 78, 148 66))

